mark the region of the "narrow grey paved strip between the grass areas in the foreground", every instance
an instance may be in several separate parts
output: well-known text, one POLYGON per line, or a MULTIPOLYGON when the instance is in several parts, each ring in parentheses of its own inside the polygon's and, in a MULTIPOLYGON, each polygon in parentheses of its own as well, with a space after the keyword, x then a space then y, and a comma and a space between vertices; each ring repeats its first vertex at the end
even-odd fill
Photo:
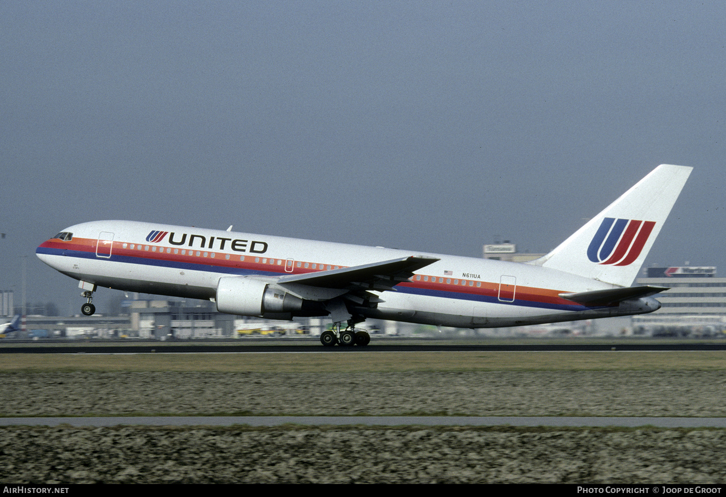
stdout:
POLYGON ((726 418, 568 417, 568 416, 129 416, 0 418, 0 426, 515 426, 515 427, 661 427, 725 428, 726 418))

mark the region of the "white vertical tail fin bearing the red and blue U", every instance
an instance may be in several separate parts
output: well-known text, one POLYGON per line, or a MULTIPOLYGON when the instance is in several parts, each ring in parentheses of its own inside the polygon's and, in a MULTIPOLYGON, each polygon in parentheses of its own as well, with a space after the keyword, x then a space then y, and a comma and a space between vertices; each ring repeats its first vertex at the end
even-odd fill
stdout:
POLYGON ((629 287, 692 169, 659 165, 555 250, 532 263, 629 287))

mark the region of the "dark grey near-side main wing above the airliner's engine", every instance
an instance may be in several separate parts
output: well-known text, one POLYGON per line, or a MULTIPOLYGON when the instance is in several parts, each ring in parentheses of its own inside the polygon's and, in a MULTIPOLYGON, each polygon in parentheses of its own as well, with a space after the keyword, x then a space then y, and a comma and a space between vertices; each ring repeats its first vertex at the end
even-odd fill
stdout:
POLYGON ((291 274, 280 276, 277 285, 283 287, 301 298, 311 300, 327 300, 339 295, 346 296, 348 300, 358 302, 382 300, 375 295, 367 294, 368 290, 385 292, 395 290, 397 284, 407 282, 414 271, 435 263, 438 258, 426 255, 411 255, 409 257, 383 260, 378 263, 363 264, 350 268, 319 271, 311 274, 291 274), (355 297, 355 294, 361 294, 355 297))

